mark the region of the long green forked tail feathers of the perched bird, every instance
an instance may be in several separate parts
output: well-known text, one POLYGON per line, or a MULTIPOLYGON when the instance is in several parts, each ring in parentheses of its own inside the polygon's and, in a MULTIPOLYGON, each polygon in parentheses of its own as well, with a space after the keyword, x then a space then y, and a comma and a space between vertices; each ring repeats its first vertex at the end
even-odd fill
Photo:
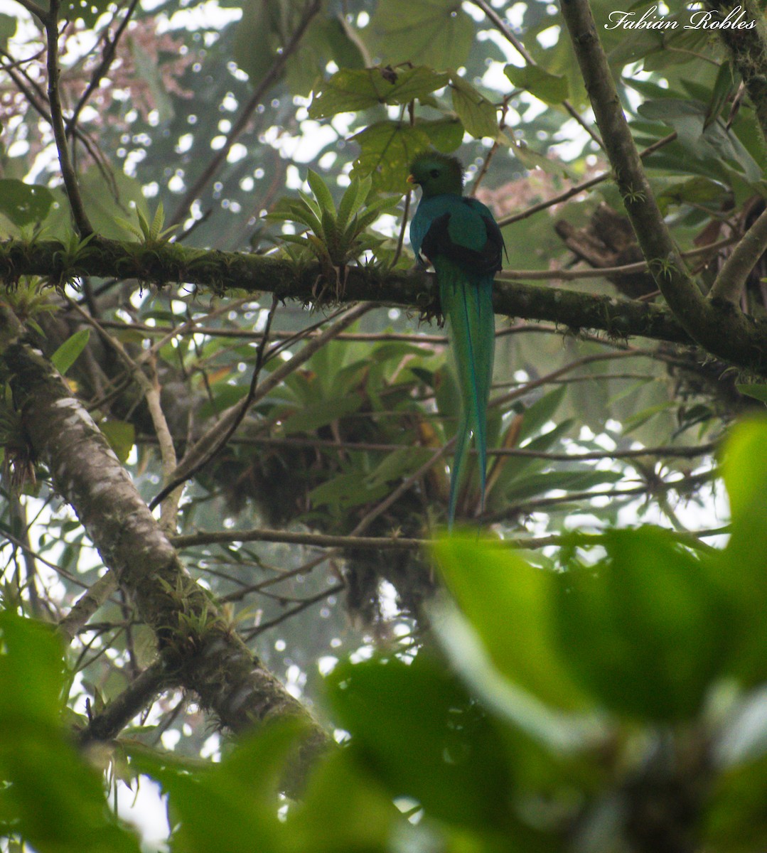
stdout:
POLYGON ((450 475, 448 526, 456 514, 458 485, 471 435, 479 454, 481 508, 485 508, 487 401, 495 353, 492 276, 471 276, 446 258, 434 264, 442 308, 450 320, 450 342, 461 389, 462 416, 450 475))

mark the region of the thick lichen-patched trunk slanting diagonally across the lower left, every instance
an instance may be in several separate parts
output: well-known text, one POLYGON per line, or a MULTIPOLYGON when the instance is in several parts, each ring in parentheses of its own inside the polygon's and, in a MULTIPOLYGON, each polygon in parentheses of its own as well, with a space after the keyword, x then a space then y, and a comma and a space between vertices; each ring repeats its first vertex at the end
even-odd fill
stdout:
POLYGON ((22 331, 0 306, 0 357, 32 450, 154 630, 166 672, 234 731, 286 714, 305 719, 310 725, 300 759, 305 769, 326 743, 322 728, 183 570, 102 432, 55 369, 24 342, 22 331))

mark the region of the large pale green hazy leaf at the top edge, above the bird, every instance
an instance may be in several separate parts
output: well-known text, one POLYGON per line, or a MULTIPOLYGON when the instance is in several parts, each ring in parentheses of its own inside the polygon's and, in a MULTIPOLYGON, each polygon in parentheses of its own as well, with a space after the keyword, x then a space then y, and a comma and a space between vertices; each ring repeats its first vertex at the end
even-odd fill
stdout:
POLYGON ((369 30, 370 49, 392 65, 414 62, 433 68, 461 67, 474 39, 474 21, 459 3, 445 0, 378 3, 369 30))

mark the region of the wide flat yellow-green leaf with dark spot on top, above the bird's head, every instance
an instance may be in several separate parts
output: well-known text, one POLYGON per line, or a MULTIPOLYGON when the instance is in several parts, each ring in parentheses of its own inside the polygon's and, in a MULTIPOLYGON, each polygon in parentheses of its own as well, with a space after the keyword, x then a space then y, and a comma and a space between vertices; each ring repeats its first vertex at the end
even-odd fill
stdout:
POLYGON ((315 90, 309 107, 311 119, 336 113, 353 113, 379 104, 406 104, 415 98, 442 89, 448 75, 418 66, 404 71, 392 68, 341 68, 315 90))

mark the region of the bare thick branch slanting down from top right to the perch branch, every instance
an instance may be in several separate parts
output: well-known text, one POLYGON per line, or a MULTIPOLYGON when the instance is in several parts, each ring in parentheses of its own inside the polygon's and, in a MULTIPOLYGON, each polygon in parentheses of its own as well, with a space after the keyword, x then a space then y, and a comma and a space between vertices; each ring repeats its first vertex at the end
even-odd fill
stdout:
POLYGON ((631 137, 588 0, 561 0, 561 9, 615 181, 660 292, 706 351, 763 373, 767 352, 761 331, 731 303, 713 304, 703 297, 671 237, 631 137))

